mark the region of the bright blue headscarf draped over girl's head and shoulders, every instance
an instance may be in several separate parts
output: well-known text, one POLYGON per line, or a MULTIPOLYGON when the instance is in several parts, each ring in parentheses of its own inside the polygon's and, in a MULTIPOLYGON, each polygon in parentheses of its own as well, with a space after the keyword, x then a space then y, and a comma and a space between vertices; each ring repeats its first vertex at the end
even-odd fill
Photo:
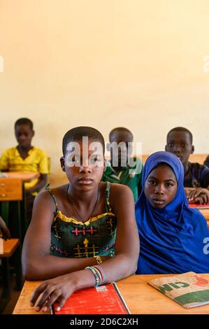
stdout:
POLYGON ((206 219, 198 210, 189 208, 183 181, 182 163, 172 153, 157 152, 147 158, 143 190, 135 208, 140 237, 137 274, 209 272, 206 219), (162 162, 173 169, 178 189, 172 202, 157 209, 146 199, 144 186, 147 176, 162 162))

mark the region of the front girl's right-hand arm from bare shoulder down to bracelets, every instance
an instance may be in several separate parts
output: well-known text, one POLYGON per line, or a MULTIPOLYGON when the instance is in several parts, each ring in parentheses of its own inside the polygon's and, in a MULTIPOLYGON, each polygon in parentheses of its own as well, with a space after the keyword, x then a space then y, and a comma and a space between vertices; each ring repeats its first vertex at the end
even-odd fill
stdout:
POLYGON ((139 255, 139 237, 136 227, 134 195, 129 187, 112 184, 110 204, 117 217, 115 257, 103 263, 107 282, 134 274, 139 255))

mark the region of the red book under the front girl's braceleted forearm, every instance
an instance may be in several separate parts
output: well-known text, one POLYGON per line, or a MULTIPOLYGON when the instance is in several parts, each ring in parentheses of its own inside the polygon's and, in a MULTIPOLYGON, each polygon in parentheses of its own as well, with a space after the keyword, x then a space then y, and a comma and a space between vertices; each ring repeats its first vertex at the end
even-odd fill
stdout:
POLYGON ((52 307, 53 314, 130 314, 116 283, 75 291, 61 311, 52 307))

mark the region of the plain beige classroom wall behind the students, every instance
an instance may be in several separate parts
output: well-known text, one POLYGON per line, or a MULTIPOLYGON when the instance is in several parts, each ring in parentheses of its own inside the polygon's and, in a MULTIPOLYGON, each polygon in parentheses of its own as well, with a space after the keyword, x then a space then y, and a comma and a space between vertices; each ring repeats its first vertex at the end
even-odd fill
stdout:
POLYGON ((208 0, 0 0, 0 152, 27 116, 52 184, 64 181, 62 137, 77 125, 106 140, 128 127, 143 153, 181 125, 209 153, 208 30, 208 0))

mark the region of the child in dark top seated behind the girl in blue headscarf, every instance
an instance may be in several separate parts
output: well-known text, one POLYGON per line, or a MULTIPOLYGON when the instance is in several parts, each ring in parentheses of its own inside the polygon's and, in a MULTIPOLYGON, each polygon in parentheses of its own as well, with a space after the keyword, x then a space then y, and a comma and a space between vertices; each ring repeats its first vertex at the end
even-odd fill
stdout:
POLYGON ((192 133, 184 127, 175 127, 167 135, 166 151, 175 154, 184 167, 184 186, 189 203, 209 204, 209 168, 189 162, 194 153, 192 133))

